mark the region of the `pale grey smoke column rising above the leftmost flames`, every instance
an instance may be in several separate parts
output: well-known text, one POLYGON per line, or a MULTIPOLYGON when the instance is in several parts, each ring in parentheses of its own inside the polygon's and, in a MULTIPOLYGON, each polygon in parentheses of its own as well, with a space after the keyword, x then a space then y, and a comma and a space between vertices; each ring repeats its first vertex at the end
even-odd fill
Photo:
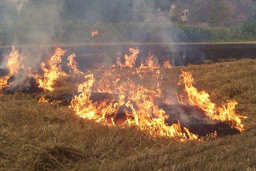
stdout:
POLYGON ((63 3, 60 0, 8 0, 1 5, 6 27, 13 30, 12 45, 22 45, 19 50, 25 71, 15 76, 12 86, 15 87, 24 83, 30 71, 40 69, 42 58, 51 52, 63 3))

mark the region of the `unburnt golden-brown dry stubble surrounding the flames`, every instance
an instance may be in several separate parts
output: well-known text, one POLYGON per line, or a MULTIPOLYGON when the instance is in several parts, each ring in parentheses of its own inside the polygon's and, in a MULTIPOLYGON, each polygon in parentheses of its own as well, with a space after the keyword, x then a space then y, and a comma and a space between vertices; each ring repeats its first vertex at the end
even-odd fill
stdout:
MULTIPOLYGON (((256 60, 163 69, 165 94, 181 93, 181 69, 217 104, 237 100, 246 131, 182 143, 78 118, 67 106, 39 103, 40 93, 2 95, 0 170, 255 170, 256 60)), ((77 82, 81 77, 59 80, 53 94, 72 92, 77 82)))

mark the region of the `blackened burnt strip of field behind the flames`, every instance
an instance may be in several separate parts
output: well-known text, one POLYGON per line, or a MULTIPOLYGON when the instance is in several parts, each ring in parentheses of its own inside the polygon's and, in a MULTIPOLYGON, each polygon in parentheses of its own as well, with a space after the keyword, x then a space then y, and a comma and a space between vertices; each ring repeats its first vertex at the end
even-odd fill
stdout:
MULTIPOLYGON (((50 56, 54 46, 16 46, 19 50, 29 49, 35 51, 40 48, 49 48, 50 56)), ((202 43, 109 43, 109 44, 73 44, 60 45, 60 48, 68 50, 66 58, 71 53, 76 53, 76 60, 81 70, 108 67, 116 63, 119 56, 129 53, 129 48, 139 48, 140 53, 136 65, 144 60, 148 52, 155 54, 160 65, 163 60, 169 60, 173 66, 187 66, 188 64, 203 64, 223 60, 235 60, 242 58, 256 58, 256 42, 202 42, 202 43)), ((0 57, 10 53, 10 46, 0 46, 0 57)), ((36 53, 35 53, 36 54, 36 53)), ((46 59, 44 59, 46 60, 46 59)), ((0 58, 1 61, 1 58, 0 58)), ((66 61, 63 60, 63 63, 66 61)))

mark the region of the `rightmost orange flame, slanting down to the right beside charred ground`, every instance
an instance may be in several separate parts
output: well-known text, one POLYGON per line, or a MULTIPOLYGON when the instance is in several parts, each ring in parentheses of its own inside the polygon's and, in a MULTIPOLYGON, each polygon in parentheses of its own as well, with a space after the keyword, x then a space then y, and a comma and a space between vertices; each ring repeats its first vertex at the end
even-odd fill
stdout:
POLYGON ((185 84, 185 92, 190 105, 197 106, 211 119, 231 122, 232 126, 236 127, 240 132, 244 131, 244 125, 240 118, 246 117, 240 116, 234 111, 234 107, 238 104, 237 101, 228 101, 223 103, 222 107, 217 108, 217 105, 210 101, 208 93, 205 91, 198 92, 193 87, 193 77, 189 72, 182 71, 180 78, 185 84))

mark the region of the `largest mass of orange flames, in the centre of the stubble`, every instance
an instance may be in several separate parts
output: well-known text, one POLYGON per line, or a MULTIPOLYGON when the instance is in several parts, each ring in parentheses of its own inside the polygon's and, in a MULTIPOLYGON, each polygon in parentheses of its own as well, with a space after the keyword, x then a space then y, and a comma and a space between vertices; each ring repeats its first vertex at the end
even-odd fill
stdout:
MULTIPOLYGON (((71 102, 70 108, 82 118, 94 120, 109 126, 136 126, 141 131, 146 131, 153 136, 165 136, 169 138, 178 138, 182 141, 186 139, 198 139, 198 136, 192 134, 180 123, 167 125, 165 123, 168 116, 165 111, 159 108, 154 101, 160 96, 158 91, 147 89, 143 86, 136 86, 131 79, 120 81, 118 75, 111 75, 110 71, 106 72, 108 77, 112 77, 114 89, 111 86, 105 87, 104 90, 96 87, 98 92, 110 92, 117 96, 109 103, 106 101, 93 103, 90 100, 93 84, 96 82, 94 75, 85 76, 86 82, 78 85, 78 96, 75 96, 71 102), (118 119, 118 111, 125 107, 124 117, 118 119), (119 123, 119 124, 118 124, 119 123)), ((113 73, 112 73, 113 74, 113 73)))

